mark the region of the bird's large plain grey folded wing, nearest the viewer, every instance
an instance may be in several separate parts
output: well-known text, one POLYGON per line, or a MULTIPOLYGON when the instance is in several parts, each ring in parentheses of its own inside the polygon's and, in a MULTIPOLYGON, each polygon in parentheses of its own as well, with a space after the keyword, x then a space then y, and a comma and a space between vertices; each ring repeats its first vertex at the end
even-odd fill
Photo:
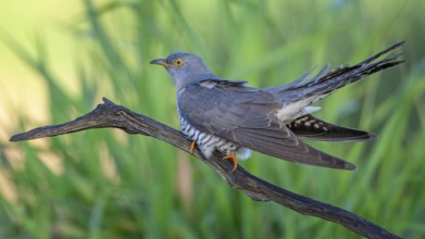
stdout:
POLYGON ((355 168, 299 140, 276 117, 282 104, 273 95, 239 85, 207 81, 190 84, 177 96, 180 115, 199 130, 296 163, 355 168))

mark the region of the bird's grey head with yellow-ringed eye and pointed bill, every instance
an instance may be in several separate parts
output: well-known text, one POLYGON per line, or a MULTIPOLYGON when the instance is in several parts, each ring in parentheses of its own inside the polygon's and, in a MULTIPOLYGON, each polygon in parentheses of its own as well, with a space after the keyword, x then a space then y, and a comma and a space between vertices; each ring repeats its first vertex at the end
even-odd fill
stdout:
POLYGON ((190 53, 176 52, 170 54, 166 59, 155 59, 150 63, 164 66, 177 89, 189 83, 220 79, 211 73, 201 58, 190 53))

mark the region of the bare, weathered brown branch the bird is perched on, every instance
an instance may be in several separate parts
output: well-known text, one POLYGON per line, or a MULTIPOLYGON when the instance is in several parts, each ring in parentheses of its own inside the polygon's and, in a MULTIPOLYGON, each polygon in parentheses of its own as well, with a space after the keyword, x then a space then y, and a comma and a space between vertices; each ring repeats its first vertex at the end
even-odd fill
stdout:
MULTIPOLYGON (((35 128, 26 133, 14 135, 11 141, 30 140, 70 134, 90 128, 120 128, 128 134, 141 134, 152 136, 189 152, 190 141, 183 137, 180 131, 155 122, 145 115, 114 104, 103 98, 104 103, 99 104, 90 113, 72 122, 60 125, 35 128)), ((400 238, 386 229, 375 225, 355 214, 342 209, 315 201, 313 199, 293 193, 291 191, 272 185, 255 177, 238 166, 233 169, 233 163, 222 160, 223 155, 215 152, 209 160, 203 160, 200 152, 195 150, 195 156, 208 164, 233 188, 242 190, 247 196, 257 201, 274 201, 298 213, 316 216, 326 221, 340 224, 348 229, 367 238, 400 238)))

